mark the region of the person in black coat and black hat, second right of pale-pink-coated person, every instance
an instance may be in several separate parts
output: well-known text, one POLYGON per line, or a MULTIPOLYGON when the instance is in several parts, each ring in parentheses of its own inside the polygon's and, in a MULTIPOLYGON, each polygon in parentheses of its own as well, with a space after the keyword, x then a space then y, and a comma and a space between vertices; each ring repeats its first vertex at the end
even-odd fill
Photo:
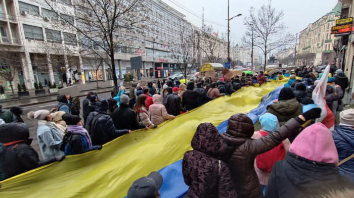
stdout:
POLYGON ((194 90, 194 82, 188 82, 187 90, 183 93, 182 96, 182 107, 184 107, 188 111, 197 108, 198 97, 203 97, 205 93, 206 90, 204 90, 204 92, 202 93, 197 90, 194 90))

